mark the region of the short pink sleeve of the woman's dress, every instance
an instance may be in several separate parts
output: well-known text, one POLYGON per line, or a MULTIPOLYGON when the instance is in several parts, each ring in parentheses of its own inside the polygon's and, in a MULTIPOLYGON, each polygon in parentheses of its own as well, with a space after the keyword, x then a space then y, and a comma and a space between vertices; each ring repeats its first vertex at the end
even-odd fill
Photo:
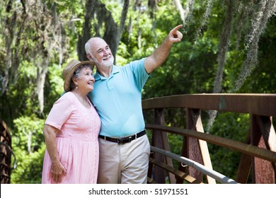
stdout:
POLYGON ((45 124, 61 129, 62 125, 67 122, 72 113, 72 103, 70 99, 69 94, 62 95, 62 97, 52 106, 45 124))

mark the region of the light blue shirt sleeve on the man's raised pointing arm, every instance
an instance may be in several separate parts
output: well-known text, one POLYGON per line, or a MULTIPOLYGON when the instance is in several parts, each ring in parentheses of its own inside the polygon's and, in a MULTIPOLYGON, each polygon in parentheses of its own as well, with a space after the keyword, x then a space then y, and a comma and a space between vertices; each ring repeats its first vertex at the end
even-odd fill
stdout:
POLYGON ((146 73, 146 69, 144 68, 145 59, 146 58, 130 62, 130 68, 132 69, 132 73, 134 74, 136 84, 140 90, 142 90, 144 84, 146 83, 150 75, 146 73))

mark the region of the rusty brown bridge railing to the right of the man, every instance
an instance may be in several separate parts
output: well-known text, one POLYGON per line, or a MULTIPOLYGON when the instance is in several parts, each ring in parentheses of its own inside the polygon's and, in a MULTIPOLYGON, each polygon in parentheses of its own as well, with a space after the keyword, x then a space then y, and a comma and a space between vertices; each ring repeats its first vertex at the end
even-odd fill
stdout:
POLYGON ((165 183, 166 178, 170 183, 247 183, 249 176, 252 183, 275 183, 276 134, 272 117, 276 117, 276 94, 171 95, 143 100, 142 107, 144 112, 154 110, 154 123, 146 124, 148 132, 152 132, 149 183, 165 183), (166 126, 165 110, 171 108, 185 110, 185 129, 166 126), (248 114, 247 140, 205 133, 202 110, 248 114), (180 156, 170 151, 168 133, 183 136, 180 156), (236 178, 232 180, 213 170, 209 144, 241 153, 236 178), (178 167, 173 160, 179 162, 178 167))

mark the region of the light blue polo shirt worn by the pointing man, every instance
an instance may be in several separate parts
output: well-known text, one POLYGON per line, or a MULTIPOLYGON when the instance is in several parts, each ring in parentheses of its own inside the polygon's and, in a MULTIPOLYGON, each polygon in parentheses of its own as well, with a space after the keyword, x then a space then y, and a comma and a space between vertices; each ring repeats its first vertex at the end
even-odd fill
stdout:
POLYGON ((128 136, 144 129, 142 88, 149 78, 144 59, 125 66, 113 65, 109 78, 98 71, 94 75, 94 90, 88 97, 100 115, 100 135, 128 136))

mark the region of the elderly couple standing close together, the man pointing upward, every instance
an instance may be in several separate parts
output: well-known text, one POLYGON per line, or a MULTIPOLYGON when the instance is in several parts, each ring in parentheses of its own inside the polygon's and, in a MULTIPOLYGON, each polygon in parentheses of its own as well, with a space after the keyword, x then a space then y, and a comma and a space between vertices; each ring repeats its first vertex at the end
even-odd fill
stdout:
POLYGON ((149 57, 125 66, 113 65, 105 40, 86 42, 89 61, 65 66, 64 94, 45 121, 42 183, 146 183, 150 146, 142 88, 182 39, 181 27, 173 28, 149 57))

